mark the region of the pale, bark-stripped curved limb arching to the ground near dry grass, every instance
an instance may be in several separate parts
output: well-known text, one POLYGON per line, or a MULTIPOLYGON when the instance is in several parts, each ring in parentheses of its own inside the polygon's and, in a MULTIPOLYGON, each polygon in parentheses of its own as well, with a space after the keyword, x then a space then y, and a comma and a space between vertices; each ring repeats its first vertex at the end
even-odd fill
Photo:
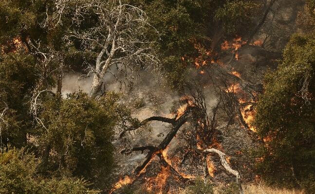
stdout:
MULTIPOLYGON (((211 148, 211 149, 205 149, 203 151, 204 153, 204 158, 206 158, 206 155, 207 154, 211 154, 211 153, 215 153, 215 154, 218 154, 220 156, 220 159, 221 159, 221 163, 222 163, 222 166, 225 168, 226 171, 228 171, 229 173, 231 173, 232 175, 234 175, 236 177, 236 183, 238 184, 239 186, 239 189, 240 189, 240 194, 244 194, 243 192, 243 189, 241 187, 241 176, 240 176, 240 173, 236 170, 233 170, 230 165, 226 162, 226 159, 225 159, 225 154, 218 150, 218 149, 214 149, 214 148, 211 148)), ((205 159, 204 159, 205 160, 205 159)), ((204 177, 207 176, 207 174, 205 172, 207 172, 208 170, 208 167, 207 167, 207 162, 205 160, 204 162, 204 177)))

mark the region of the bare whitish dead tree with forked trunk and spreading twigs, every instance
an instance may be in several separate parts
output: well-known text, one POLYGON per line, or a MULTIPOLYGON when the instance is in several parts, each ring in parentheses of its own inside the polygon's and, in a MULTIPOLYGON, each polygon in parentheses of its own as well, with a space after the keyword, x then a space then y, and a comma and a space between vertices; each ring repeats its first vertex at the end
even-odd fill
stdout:
MULTIPOLYGON (((93 75, 91 96, 97 97, 104 92, 104 77, 114 76, 121 84, 132 82, 134 71, 148 67, 159 67, 152 41, 145 30, 153 28, 148 16, 138 7, 124 4, 122 0, 86 0, 75 3, 69 8, 74 12, 73 23, 77 30, 70 31, 65 40, 71 44, 73 39, 81 41, 82 50, 95 55, 95 64, 91 65, 88 75, 93 75), (95 25, 78 30, 83 22, 94 17, 95 25), (121 79, 122 77, 122 79, 121 79)), ((67 8, 66 8, 67 9, 67 8)))

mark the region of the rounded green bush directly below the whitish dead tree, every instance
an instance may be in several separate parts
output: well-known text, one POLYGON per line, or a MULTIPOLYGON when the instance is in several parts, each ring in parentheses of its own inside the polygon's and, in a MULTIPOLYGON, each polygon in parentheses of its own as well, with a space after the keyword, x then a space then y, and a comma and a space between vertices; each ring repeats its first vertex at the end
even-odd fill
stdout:
POLYGON ((108 182, 114 163, 113 129, 119 118, 117 99, 113 93, 94 100, 78 92, 43 102, 39 118, 46 129, 39 124, 33 134, 43 161, 47 160, 45 153, 51 153, 49 169, 65 168, 93 180, 98 187, 108 182))

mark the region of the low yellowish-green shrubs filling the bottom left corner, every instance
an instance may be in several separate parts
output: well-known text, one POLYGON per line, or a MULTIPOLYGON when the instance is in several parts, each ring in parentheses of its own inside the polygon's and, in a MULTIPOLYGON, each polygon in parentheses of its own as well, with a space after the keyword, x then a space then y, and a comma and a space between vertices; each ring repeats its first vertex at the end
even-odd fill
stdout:
POLYGON ((97 194, 78 178, 44 178, 37 175, 38 161, 23 149, 0 153, 1 194, 97 194))

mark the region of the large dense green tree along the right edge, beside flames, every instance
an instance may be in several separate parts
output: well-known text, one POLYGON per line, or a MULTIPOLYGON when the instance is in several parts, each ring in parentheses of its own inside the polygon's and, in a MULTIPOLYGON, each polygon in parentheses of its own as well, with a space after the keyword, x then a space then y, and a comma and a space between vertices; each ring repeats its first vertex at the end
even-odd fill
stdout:
POLYGON ((254 125, 266 140, 259 169, 267 180, 300 184, 315 173, 314 68, 315 37, 296 34, 278 70, 266 75, 254 125))

